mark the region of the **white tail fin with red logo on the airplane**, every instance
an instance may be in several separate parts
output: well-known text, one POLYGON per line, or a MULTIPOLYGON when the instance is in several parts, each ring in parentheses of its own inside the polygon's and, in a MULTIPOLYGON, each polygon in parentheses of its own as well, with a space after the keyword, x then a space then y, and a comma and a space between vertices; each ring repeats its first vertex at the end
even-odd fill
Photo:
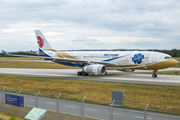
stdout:
POLYGON ((35 30, 36 38, 37 38, 37 43, 39 46, 39 51, 46 50, 46 49, 52 49, 44 35, 41 33, 40 30, 35 30))

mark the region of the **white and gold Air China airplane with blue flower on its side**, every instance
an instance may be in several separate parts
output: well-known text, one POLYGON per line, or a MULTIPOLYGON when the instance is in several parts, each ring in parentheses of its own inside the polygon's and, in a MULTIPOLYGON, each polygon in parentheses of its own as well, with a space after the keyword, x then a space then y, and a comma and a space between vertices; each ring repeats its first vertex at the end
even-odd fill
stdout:
POLYGON ((39 56, 6 55, 20 57, 41 57, 54 63, 81 67, 78 76, 106 75, 107 70, 133 72, 135 70, 152 70, 152 77, 157 77, 159 69, 178 64, 170 55, 153 51, 63 51, 53 49, 40 30, 35 30, 39 56))

